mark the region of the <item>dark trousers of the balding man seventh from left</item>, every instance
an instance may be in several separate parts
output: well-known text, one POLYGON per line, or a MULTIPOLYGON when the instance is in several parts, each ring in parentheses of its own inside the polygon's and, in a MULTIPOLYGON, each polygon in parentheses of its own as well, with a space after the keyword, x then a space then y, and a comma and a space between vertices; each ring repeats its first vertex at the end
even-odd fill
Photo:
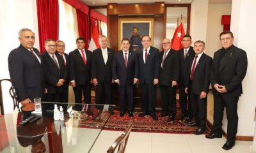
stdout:
POLYGON ((143 112, 155 115, 156 113, 156 85, 141 84, 143 92, 143 112))

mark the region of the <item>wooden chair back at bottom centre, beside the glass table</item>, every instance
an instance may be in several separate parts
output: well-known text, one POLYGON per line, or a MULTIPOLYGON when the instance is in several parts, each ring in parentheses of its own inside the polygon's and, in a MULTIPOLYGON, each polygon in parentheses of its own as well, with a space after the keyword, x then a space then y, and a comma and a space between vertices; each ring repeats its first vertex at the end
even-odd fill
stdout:
POLYGON ((116 150, 116 152, 124 153, 129 135, 132 130, 133 122, 134 122, 134 120, 131 119, 127 128, 125 129, 124 133, 122 133, 122 135, 118 136, 118 138, 116 138, 115 142, 111 145, 111 147, 109 147, 109 149, 107 151, 108 153, 114 153, 117 148, 118 148, 118 150, 116 150))

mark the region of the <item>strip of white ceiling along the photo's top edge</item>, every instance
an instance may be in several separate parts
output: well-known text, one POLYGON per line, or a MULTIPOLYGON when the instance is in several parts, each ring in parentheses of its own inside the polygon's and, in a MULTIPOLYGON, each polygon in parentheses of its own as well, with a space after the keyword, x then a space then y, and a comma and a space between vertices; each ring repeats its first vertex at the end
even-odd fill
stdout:
MULTIPOLYGON (((79 0, 87 6, 102 6, 108 3, 128 4, 128 3, 145 3, 145 0, 79 0), (94 3, 94 4, 93 4, 94 3)), ((165 4, 188 4, 194 0, 168 0, 165 4)), ((163 0, 147 0, 147 3, 163 2, 163 0)), ((209 0, 209 3, 231 3, 232 0, 209 0)))

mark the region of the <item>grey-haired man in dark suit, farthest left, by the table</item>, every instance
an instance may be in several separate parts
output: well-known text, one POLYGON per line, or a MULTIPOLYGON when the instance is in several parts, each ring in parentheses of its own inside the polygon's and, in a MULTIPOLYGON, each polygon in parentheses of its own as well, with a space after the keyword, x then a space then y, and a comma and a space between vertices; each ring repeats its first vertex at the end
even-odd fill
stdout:
POLYGON ((34 98, 44 98, 44 74, 39 51, 33 47, 33 31, 20 29, 19 41, 20 46, 8 56, 8 66, 18 101, 24 106, 34 98))

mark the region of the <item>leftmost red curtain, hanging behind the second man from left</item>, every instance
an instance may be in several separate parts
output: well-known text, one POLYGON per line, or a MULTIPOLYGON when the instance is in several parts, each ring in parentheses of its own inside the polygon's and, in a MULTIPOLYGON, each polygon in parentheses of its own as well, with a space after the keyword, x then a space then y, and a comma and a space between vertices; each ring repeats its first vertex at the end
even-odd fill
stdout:
POLYGON ((36 0, 40 53, 44 52, 44 41, 59 38, 58 0, 36 0))

